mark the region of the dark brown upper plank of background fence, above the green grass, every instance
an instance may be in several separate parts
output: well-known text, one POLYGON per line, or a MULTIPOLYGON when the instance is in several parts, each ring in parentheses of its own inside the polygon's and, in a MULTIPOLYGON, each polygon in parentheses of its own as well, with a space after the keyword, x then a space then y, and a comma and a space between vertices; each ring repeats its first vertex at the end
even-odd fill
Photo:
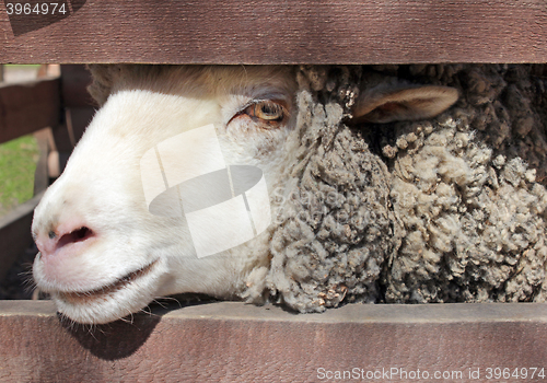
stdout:
POLYGON ((59 79, 0 84, 0 143, 57 126, 59 89, 59 79))

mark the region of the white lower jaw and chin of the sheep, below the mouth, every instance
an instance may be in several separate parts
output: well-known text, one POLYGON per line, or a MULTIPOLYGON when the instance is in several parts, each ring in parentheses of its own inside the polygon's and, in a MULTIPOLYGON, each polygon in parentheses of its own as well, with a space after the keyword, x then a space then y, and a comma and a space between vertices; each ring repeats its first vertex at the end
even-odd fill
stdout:
POLYGON ((133 271, 102 289, 86 292, 55 291, 51 299, 58 312, 80 324, 105 324, 124 320, 153 301, 161 285, 161 259, 133 271))

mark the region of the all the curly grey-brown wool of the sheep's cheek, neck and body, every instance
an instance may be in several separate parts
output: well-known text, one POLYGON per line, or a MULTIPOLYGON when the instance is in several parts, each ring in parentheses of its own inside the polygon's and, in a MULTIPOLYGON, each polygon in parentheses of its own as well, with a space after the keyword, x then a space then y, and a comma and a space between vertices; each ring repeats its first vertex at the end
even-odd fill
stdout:
POLYGON ((301 67, 300 148, 270 242, 270 300, 299 312, 545 301, 545 72, 301 67), (359 90, 379 79, 449 85, 461 97, 429 120, 349 125, 359 90))

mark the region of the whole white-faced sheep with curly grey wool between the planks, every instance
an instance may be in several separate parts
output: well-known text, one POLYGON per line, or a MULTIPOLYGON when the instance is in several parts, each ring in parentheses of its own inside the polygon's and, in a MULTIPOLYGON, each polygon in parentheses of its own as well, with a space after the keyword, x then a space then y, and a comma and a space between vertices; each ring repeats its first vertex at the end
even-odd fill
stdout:
MULTIPOLYGON (((300 313, 545 300, 544 67, 90 69, 101 108, 32 227, 36 285, 70 320, 184 292, 300 313), (203 127, 231 169, 260 171, 269 199, 264 231, 207 256, 189 214, 143 181, 146 153, 203 127)), ((181 169, 207 162, 194 146, 181 169)))

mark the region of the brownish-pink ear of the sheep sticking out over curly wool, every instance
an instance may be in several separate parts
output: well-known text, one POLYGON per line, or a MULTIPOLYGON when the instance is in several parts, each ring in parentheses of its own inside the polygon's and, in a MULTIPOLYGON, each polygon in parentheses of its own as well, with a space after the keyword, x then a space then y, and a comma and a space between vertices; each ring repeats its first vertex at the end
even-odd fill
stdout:
MULTIPOLYGON (((380 86, 379 86, 380 88, 380 86)), ((430 118, 457 101, 457 90, 449 86, 412 86, 395 90, 370 89, 353 107, 354 123, 385 124, 430 118)))

